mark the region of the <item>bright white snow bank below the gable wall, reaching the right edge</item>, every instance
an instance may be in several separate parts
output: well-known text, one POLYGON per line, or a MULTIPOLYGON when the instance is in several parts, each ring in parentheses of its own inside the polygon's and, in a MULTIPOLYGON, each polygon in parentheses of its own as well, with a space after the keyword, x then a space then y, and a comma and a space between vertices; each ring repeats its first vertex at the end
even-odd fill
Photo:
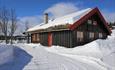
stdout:
POLYGON ((75 48, 52 46, 46 50, 77 60, 82 59, 83 62, 94 61, 110 70, 115 70, 115 30, 112 30, 111 36, 106 40, 98 39, 75 48))

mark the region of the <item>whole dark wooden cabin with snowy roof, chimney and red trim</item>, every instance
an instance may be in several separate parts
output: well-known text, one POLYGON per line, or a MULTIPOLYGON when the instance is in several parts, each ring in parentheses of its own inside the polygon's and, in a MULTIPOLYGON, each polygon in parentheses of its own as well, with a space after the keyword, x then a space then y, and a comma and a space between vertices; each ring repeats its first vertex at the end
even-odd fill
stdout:
POLYGON ((48 20, 46 13, 44 19, 43 23, 27 30, 31 35, 31 43, 73 48, 96 39, 106 39, 111 34, 108 24, 97 7, 53 20, 48 20))

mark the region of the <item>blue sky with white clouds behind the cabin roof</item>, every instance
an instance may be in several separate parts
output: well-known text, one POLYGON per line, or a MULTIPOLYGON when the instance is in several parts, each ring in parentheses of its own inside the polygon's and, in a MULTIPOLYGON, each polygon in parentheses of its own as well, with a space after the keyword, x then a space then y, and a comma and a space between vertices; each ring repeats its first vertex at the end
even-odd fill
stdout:
POLYGON ((0 7, 16 10, 18 28, 16 34, 25 31, 25 23, 33 27, 43 22, 47 12, 55 19, 81 9, 98 7, 107 22, 115 21, 115 0, 0 0, 0 7))

